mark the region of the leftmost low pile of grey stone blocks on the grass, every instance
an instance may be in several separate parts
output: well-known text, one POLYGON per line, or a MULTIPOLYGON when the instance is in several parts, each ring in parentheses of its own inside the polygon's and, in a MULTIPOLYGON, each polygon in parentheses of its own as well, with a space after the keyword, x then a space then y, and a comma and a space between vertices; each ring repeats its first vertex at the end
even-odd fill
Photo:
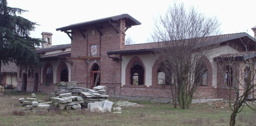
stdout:
POLYGON ((22 106, 26 106, 26 113, 40 113, 48 112, 50 109, 51 102, 45 102, 39 99, 36 99, 35 94, 32 93, 32 98, 20 98, 19 102, 22 103, 22 106))

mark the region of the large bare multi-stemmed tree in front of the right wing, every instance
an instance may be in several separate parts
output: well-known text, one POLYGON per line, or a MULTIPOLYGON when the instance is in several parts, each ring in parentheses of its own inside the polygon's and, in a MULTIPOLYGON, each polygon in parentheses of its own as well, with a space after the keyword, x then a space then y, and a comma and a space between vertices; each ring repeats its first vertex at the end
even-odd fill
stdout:
POLYGON ((177 99, 180 108, 189 109, 196 88, 205 86, 207 67, 203 59, 216 53, 218 43, 214 35, 220 34, 220 23, 216 17, 207 17, 194 7, 187 10, 183 3, 169 6, 154 21, 151 36, 158 42, 155 51, 161 57, 159 72, 165 74, 165 84, 171 85, 174 107, 177 99))

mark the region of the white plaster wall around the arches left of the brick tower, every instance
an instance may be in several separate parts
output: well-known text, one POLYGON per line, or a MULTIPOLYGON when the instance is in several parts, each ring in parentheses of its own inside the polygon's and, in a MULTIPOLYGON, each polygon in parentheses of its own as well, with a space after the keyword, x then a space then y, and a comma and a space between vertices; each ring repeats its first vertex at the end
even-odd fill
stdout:
MULTIPOLYGON (((53 83, 57 82, 57 68, 59 66, 59 64, 61 63, 61 61, 59 60, 53 60, 53 61, 49 61, 51 66, 52 66, 52 71, 53 71, 53 83)), ((43 62, 44 64, 47 62, 43 62)), ((71 64, 65 62, 67 65, 67 69, 68 69, 68 81, 71 81, 71 64)), ((43 82, 43 70, 44 67, 41 68, 41 83, 43 82)))

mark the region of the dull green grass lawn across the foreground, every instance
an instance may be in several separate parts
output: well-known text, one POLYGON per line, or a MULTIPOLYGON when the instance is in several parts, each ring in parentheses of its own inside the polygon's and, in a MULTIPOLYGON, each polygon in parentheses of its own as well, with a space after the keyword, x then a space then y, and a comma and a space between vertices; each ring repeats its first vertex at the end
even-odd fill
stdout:
MULTIPOLYGON (((35 94, 40 100, 49 99, 47 94, 35 94)), ((232 112, 228 106, 212 108, 215 103, 192 104, 189 110, 182 110, 173 109, 172 104, 129 101, 140 106, 121 106, 121 114, 51 109, 45 114, 23 115, 21 110, 25 107, 18 101, 28 97, 31 93, 13 92, 0 96, 0 126, 228 126, 232 112)), ((236 125, 253 126, 255 116, 256 113, 245 107, 237 115, 236 125)))

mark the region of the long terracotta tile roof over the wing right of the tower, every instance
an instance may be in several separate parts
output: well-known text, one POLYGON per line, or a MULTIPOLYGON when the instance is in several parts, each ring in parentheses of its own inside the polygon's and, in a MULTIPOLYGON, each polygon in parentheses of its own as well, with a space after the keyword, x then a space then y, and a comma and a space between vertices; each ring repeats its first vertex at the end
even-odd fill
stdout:
MULTIPOLYGON (((250 37, 250 35, 248 35, 247 33, 233 33, 233 34, 223 34, 223 35, 217 35, 217 36, 210 36, 210 37, 206 37, 203 38, 204 40, 208 39, 208 40, 213 40, 212 42, 209 42, 209 44, 216 44, 219 42, 224 42, 224 41, 228 41, 228 40, 232 40, 232 39, 236 39, 236 38, 240 38, 240 37, 245 37, 248 36, 250 37)), ((251 39, 253 39, 255 41, 255 38, 250 37, 251 39)), ((198 39, 199 40, 199 39, 198 39)), ((155 43, 145 43, 145 44, 131 44, 131 45, 125 45, 124 48, 122 49, 115 49, 115 50, 110 50, 107 52, 107 54, 113 55, 113 54, 121 54, 124 52, 139 52, 139 51, 153 51, 154 49, 156 49, 156 45, 159 43, 163 43, 163 42, 155 42, 155 43)))

